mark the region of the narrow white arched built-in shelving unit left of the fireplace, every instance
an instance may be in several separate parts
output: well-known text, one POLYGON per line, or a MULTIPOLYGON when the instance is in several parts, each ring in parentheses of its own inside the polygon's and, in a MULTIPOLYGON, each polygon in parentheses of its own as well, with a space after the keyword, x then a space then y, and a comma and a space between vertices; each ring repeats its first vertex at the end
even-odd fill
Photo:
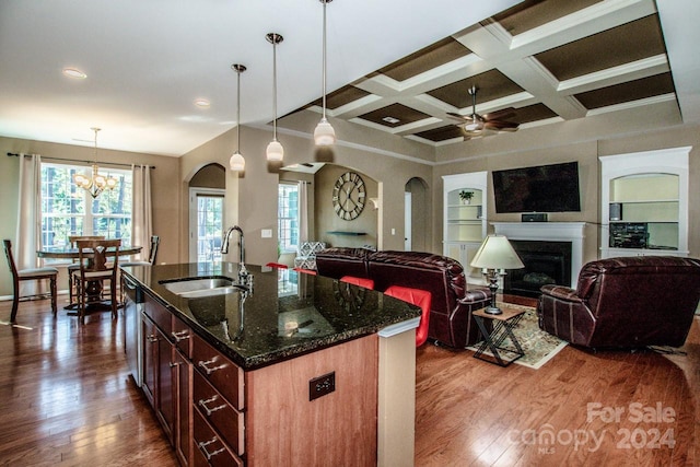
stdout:
POLYGON ((443 254, 462 264, 470 282, 481 282, 481 271, 471 268, 487 230, 487 172, 444 175, 443 254), (464 199, 467 195, 468 199, 464 199))

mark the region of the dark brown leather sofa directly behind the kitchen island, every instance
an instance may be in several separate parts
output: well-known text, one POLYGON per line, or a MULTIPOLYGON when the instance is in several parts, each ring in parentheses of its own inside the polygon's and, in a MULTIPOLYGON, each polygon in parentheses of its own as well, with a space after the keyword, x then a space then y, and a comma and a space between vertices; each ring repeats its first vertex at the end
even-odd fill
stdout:
POLYGON ((316 268, 320 276, 334 279, 372 279, 374 289, 381 292, 392 285, 429 291, 429 339, 458 349, 481 340, 471 312, 487 306, 491 292, 486 287, 467 291, 464 269, 452 258, 420 252, 337 247, 318 252, 316 268))

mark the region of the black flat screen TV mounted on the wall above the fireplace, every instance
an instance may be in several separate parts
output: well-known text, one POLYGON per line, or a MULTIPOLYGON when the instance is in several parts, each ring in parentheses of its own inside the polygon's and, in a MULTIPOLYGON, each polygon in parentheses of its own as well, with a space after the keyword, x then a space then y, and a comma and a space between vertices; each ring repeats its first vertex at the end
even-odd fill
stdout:
POLYGON ((579 163, 493 171, 495 212, 581 211, 579 163))

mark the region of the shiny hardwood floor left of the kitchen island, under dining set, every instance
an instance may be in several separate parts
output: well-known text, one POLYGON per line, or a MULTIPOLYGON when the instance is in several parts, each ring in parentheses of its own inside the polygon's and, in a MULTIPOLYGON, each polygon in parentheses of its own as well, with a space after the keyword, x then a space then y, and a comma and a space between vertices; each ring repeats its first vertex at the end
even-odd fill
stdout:
POLYGON ((0 465, 177 465, 109 312, 80 326, 48 300, 22 302, 13 327, 10 308, 0 302, 0 465))

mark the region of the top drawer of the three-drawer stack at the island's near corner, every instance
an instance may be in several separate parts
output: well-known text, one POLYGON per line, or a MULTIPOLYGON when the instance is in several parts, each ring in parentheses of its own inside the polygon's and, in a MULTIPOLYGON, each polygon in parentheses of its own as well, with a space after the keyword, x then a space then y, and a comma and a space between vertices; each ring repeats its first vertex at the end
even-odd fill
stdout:
POLYGON ((195 369, 234 409, 243 410, 243 370, 199 336, 192 335, 191 340, 195 369))

